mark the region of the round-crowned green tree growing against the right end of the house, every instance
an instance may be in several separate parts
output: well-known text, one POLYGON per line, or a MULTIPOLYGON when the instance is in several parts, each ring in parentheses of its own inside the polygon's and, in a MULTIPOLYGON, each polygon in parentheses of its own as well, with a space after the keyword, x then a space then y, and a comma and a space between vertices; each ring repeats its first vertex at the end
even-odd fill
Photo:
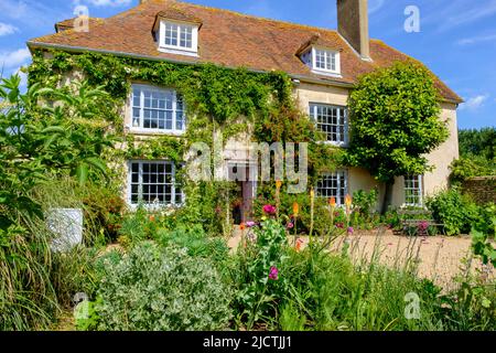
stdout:
POLYGON ((386 184, 382 213, 391 203, 395 178, 431 170, 425 154, 448 139, 439 101, 432 74, 413 61, 368 73, 352 92, 346 160, 386 184))

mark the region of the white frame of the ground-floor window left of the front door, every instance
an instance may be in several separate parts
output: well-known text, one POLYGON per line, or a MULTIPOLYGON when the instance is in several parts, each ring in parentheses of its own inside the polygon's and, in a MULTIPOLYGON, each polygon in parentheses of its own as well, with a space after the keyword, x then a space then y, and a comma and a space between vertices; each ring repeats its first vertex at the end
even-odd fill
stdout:
MULTIPOLYGON (((186 195, 184 193, 183 188, 179 188, 181 190, 181 203, 176 202, 176 188, 177 188, 177 180, 176 180, 176 167, 174 162, 169 160, 141 160, 141 159, 133 159, 127 161, 127 203, 128 205, 136 210, 140 204, 142 204, 145 208, 162 208, 162 207, 181 207, 184 205, 186 195), (141 201, 138 201, 138 203, 132 202, 132 185, 134 184, 132 182, 132 164, 138 163, 139 164, 139 179, 138 179, 138 199, 141 201), (142 200, 142 193, 143 193, 143 164, 162 164, 162 165, 171 165, 172 167, 172 183, 171 183, 171 203, 147 203, 144 200, 142 200)), ((168 185, 164 183, 164 185, 168 185)))

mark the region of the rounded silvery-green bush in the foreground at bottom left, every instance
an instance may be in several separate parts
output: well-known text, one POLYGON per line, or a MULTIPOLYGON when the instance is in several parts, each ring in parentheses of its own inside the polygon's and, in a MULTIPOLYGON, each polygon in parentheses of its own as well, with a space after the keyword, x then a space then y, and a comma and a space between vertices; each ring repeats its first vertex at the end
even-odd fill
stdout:
POLYGON ((106 263, 98 298, 99 330, 222 330, 230 319, 230 290, 209 260, 148 242, 106 263))

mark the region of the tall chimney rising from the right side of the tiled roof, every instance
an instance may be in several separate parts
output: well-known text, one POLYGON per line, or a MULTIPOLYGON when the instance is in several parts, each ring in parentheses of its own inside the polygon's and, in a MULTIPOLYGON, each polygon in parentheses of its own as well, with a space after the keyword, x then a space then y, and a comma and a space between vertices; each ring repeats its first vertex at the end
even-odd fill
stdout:
POLYGON ((370 60, 367 0, 337 0, 337 32, 363 60, 370 60))

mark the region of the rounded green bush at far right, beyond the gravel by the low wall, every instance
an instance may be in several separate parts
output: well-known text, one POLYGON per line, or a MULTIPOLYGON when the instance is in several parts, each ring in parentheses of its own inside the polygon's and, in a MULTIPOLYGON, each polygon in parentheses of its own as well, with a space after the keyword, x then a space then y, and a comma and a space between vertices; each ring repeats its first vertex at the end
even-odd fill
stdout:
POLYGON ((479 208, 456 188, 442 191, 425 202, 432 216, 444 224, 448 235, 468 234, 472 226, 479 222, 479 208))

